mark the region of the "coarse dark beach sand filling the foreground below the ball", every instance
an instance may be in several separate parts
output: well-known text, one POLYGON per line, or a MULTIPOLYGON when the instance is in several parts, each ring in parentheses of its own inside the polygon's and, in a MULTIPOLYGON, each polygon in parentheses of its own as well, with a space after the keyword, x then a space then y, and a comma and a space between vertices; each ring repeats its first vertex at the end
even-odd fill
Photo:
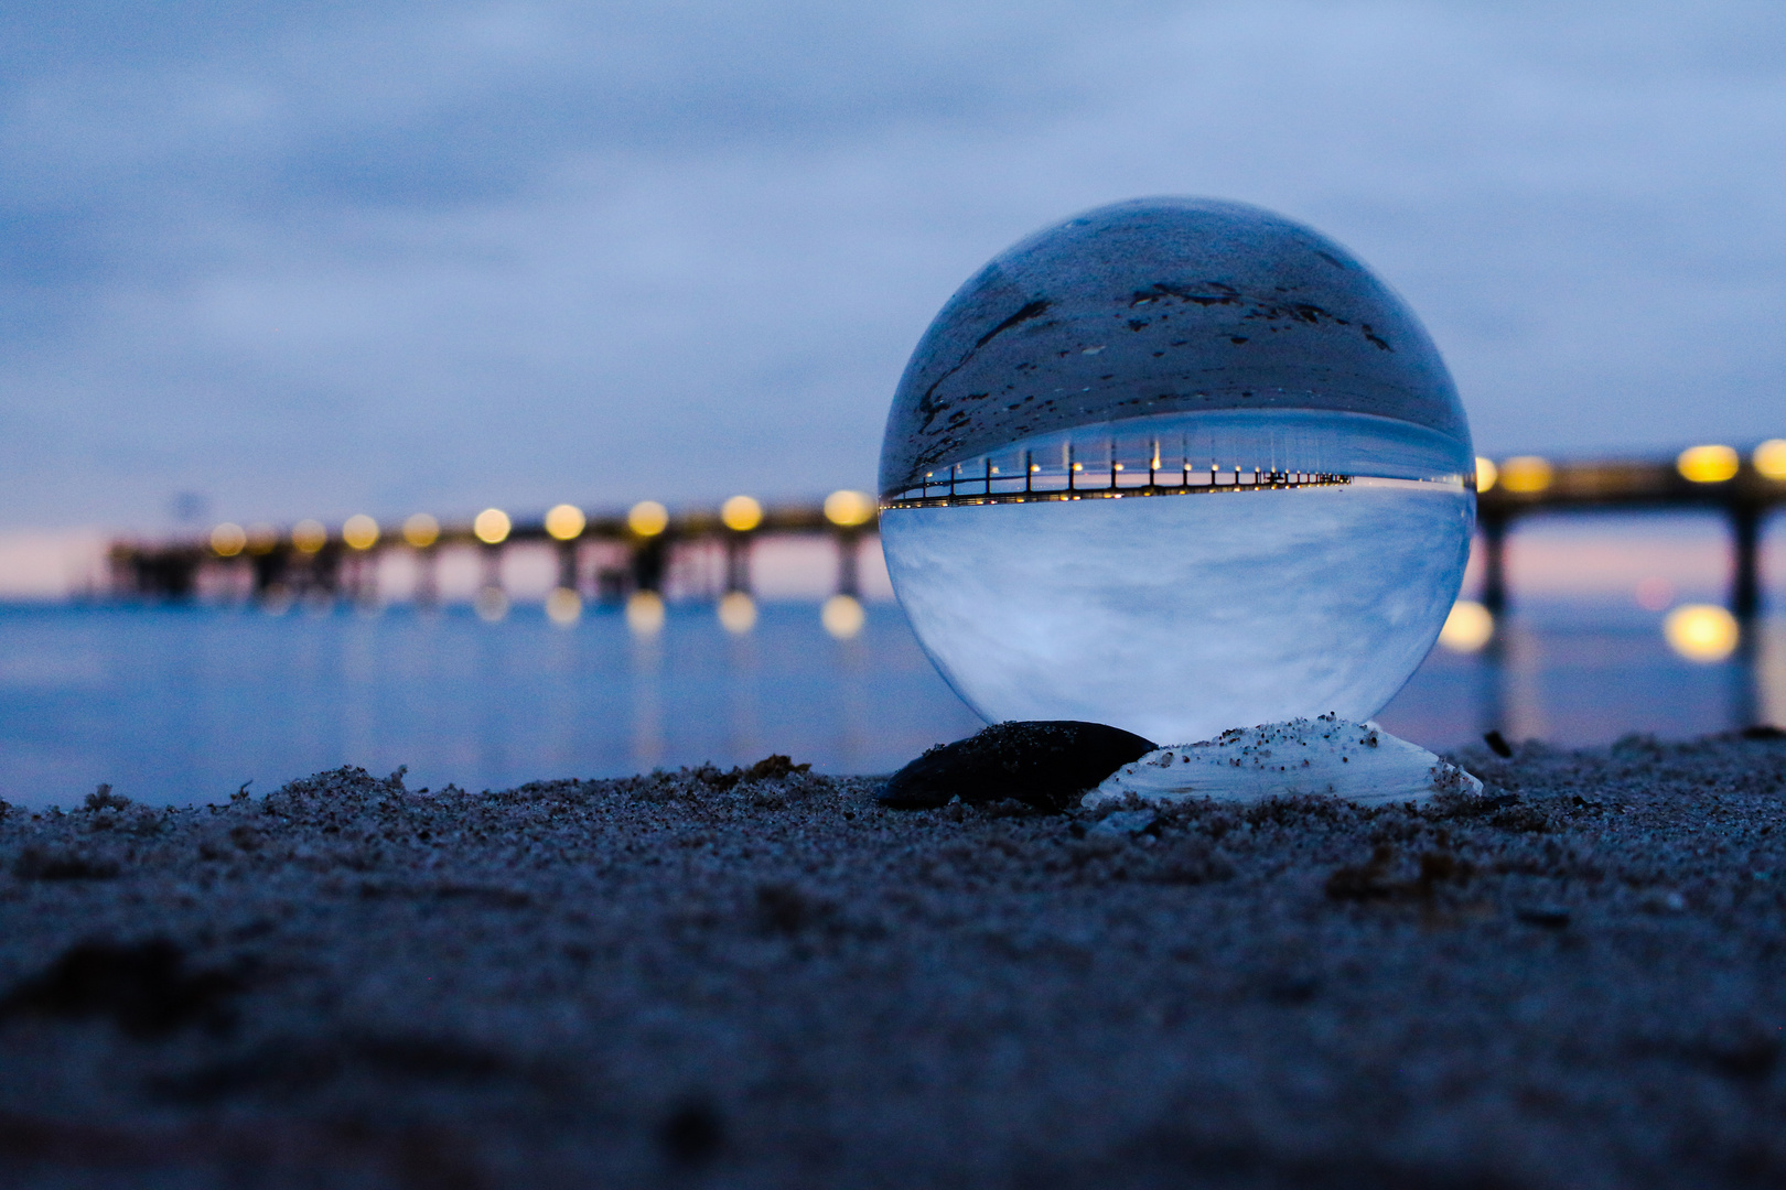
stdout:
POLYGON ((1786 1185, 1786 742, 1456 758, 13 808, 0 1185, 1786 1185))

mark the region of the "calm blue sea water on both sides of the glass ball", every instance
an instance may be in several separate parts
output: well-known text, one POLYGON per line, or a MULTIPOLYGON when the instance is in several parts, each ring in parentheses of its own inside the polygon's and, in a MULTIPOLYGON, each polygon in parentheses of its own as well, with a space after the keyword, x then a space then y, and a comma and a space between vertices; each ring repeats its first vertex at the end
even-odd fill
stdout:
MULTIPOLYGON (((1688 737, 1786 714, 1786 626, 1750 660, 1673 657, 1659 617, 1531 608, 1502 648, 1434 651, 1381 715, 1450 748, 1509 737, 1688 737)), ((895 605, 832 640, 816 605, 766 603, 729 635, 673 607, 636 639, 597 612, 563 630, 518 607, 293 612, 0 607, 0 797, 77 803, 100 781, 152 803, 223 801, 332 769, 409 765, 411 789, 498 789, 789 753, 827 773, 888 773, 979 719, 931 669, 895 605)))

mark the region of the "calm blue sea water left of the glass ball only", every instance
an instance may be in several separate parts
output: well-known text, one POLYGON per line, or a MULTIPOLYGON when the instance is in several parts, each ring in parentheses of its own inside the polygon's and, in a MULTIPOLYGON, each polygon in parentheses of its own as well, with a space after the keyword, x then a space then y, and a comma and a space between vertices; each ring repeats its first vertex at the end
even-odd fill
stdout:
POLYGON ((832 639, 813 605, 766 603, 748 633, 670 607, 575 628, 536 605, 271 617, 209 608, 0 608, 0 797, 216 801, 357 764, 411 789, 497 789, 791 753, 891 771, 979 721, 898 608, 832 639))

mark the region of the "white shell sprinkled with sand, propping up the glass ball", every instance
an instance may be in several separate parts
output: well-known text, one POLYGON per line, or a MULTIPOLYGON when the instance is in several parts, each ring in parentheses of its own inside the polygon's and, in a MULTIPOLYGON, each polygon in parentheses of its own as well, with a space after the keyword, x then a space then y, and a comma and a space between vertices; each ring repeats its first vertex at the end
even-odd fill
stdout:
POLYGON ((1086 794, 1086 806, 1123 801, 1213 797, 1263 801, 1295 794, 1363 805, 1481 794, 1482 781, 1375 723, 1336 715, 1234 728, 1213 740, 1159 748, 1125 764, 1086 794))

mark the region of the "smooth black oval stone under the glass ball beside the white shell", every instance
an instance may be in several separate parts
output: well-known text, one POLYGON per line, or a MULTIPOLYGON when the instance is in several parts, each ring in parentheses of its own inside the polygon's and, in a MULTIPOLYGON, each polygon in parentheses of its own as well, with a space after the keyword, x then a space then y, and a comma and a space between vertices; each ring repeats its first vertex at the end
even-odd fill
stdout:
POLYGON ((1156 744, 1102 723, 1032 719, 995 723, 979 735, 938 744, 893 774, 880 805, 931 810, 961 797, 970 805, 1016 799, 1066 810, 1111 773, 1156 744))

